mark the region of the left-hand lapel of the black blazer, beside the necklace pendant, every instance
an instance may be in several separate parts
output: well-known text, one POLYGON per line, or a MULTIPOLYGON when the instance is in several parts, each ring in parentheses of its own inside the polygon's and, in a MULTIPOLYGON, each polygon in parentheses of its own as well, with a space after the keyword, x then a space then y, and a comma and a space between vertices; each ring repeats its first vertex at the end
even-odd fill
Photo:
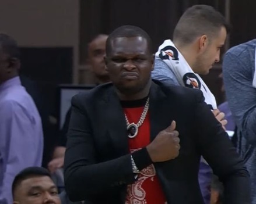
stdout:
POLYGON ((113 87, 104 93, 101 108, 106 131, 117 157, 129 153, 124 110, 113 87))

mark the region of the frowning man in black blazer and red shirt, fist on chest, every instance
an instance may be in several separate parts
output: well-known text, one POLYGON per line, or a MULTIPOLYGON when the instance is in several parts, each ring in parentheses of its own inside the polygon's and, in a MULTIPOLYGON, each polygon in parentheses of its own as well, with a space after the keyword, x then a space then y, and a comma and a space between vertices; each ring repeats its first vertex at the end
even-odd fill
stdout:
POLYGON ((202 204, 204 156, 225 187, 225 203, 250 203, 248 171, 199 90, 150 78, 152 42, 141 28, 110 34, 112 83, 72 99, 65 152, 72 201, 202 204))

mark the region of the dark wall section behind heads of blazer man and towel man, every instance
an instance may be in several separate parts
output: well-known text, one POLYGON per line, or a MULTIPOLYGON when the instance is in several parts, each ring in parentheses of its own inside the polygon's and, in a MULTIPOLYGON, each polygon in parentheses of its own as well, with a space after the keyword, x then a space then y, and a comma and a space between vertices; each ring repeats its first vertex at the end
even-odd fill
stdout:
MULTIPOLYGON (((110 33, 118 26, 132 24, 147 31, 155 51, 165 39, 172 38, 174 27, 185 9, 196 4, 207 4, 225 15, 223 0, 93 0, 80 1, 79 61, 85 63, 86 46, 97 33, 110 33)), ((203 77, 216 95, 218 103, 224 100, 218 77, 221 66, 216 66, 209 76, 203 77)))

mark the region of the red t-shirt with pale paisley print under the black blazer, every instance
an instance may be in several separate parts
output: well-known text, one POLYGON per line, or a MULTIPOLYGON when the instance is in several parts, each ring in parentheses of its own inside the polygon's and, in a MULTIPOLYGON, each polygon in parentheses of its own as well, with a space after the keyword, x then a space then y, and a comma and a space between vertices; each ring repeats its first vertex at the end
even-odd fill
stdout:
MULTIPOLYGON (((129 123, 138 123, 144 107, 124 108, 129 123)), ((138 135, 129 138, 129 149, 131 152, 147 146, 150 143, 150 122, 149 114, 139 127, 138 135)), ((128 185, 125 204, 164 204, 166 203, 162 187, 156 176, 153 164, 141 170, 138 180, 134 184, 128 185)))

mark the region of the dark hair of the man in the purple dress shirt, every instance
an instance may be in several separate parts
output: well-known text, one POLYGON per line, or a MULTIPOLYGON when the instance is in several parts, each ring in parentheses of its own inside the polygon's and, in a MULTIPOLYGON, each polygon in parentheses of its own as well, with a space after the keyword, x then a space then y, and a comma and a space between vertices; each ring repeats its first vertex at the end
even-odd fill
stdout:
POLYGON ((0 49, 11 58, 20 59, 20 51, 17 42, 8 34, 0 33, 0 49))

